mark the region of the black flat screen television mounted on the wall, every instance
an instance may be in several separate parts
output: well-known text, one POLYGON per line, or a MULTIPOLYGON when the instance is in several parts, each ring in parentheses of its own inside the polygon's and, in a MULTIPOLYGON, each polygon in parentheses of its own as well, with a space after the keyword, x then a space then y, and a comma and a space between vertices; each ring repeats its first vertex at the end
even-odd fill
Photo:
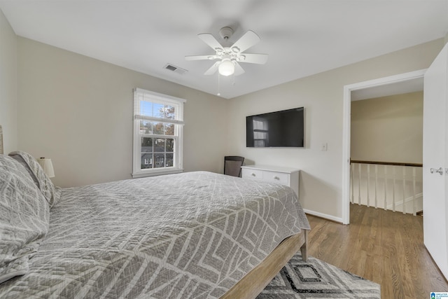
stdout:
POLYGON ((246 117, 246 146, 304 147, 304 108, 246 117))

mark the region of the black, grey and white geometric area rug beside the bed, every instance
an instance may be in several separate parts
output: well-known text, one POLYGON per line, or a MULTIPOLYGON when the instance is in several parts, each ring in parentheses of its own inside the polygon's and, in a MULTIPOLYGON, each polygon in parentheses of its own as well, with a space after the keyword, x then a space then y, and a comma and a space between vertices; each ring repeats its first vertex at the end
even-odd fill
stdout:
POLYGON ((258 295, 270 298, 381 298, 379 284, 309 257, 295 254, 258 295))

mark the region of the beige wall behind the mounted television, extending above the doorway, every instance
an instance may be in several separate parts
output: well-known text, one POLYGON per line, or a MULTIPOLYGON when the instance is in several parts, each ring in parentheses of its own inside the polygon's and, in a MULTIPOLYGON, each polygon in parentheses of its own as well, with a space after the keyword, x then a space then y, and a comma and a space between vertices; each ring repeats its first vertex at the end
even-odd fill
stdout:
POLYGON ((302 169, 299 196, 304 209, 342 221, 344 85, 426 69, 443 43, 430 41, 232 99, 229 151, 258 164, 302 169), (306 109, 306 148, 246 148, 246 116, 299 106, 306 109), (328 151, 321 151, 323 143, 328 151))

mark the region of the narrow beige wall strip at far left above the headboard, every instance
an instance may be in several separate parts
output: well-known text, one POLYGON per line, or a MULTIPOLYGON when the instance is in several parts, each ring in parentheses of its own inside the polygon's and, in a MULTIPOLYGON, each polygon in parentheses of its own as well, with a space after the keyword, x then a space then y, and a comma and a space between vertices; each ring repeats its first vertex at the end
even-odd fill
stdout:
POLYGON ((0 125, 3 152, 15 151, 17 139, 17 37, 0 10, 0 125))

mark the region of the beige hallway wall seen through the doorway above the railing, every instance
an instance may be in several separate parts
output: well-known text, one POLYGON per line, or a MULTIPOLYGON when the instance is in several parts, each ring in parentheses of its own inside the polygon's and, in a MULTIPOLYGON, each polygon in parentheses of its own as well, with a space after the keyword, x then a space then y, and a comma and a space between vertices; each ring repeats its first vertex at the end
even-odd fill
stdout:
POLYGON ((351 158, 423 162, 423 92, 351 102, 351 158))

